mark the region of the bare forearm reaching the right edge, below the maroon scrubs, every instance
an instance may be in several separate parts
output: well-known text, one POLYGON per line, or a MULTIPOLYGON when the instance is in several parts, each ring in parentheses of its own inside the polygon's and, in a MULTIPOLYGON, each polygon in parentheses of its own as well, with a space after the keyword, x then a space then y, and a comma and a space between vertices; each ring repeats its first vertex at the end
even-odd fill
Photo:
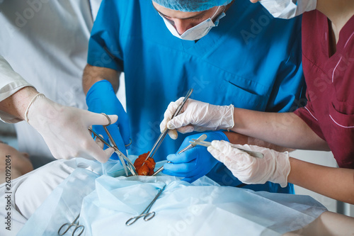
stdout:
POLYGON ((290 165, 288 182, 354 204, 354 169, 324 167, 292 157, 290 165))

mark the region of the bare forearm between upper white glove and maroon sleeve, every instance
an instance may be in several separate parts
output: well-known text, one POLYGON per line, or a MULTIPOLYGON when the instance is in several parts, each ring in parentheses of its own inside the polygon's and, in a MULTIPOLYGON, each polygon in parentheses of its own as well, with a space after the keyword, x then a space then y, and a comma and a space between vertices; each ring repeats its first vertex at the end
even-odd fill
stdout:
POLYGON ((231 130, 282 147, 329 150, 326 142, 295 113, 268 113, 235 108, 234 128, 231 130))

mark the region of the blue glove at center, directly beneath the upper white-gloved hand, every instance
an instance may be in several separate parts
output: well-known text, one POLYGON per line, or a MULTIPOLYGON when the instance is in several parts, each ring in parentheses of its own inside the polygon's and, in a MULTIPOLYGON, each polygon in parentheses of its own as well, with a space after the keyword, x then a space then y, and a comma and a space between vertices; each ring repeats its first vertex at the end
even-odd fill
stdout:
MULTIPOLYGON (((207 135, 205 141, 229 141, 227 136, 222 133, 222 131, 215 131, 205 134, 207 135)), ((193 138, 197 139, 200 137, 200 135, 202 135, 202 133, 185 137, 185 140, 183 141, 178 152, 184 147, 190 145, 189 141, 192 141, 193 138)), ((189 183, 192 183, 202 176, 205 176, 205 174, 209 173, 210 170, 215 167, 215 164, 219 162, 217 159, 212 157, 210 152, 207 151, 207 147, 202 147, 200 145, 196 145, 195 147, 182 152, 181 154, 169 154, 166 159, 171 163, 164 164, 164 170, 162 172, 164 174, 184 177, 182 180, 188 181, 189 183)))

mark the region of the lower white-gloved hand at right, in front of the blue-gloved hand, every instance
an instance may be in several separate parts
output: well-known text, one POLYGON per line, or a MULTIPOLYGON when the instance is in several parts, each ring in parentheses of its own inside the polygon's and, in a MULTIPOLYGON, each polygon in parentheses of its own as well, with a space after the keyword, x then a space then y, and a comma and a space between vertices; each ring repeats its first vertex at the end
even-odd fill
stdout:
POLYGON ((225 141, 212 141, 207 147, 208 152, 218 159, 244 184, 264 184, 271 181, 287 186, 287 176, 290 173, 288 152, 276 152, 265 147, 253 145, 230 145, 225 141), (244 150, 262 152, 263 158, 252 157, 236 147, 244 150))

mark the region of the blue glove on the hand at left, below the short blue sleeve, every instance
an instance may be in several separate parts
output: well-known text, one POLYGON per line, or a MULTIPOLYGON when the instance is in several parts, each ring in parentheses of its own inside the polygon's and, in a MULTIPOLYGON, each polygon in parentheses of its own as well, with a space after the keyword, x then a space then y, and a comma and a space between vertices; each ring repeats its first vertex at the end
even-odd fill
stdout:
MULTIPOLYGON (((122 104, 115 95, 112 84, 107 80, 101 80, 91 86, 86 95, 86 104, 89 111, 95 113, 105 113, 107 115, 117 115, 118 121, 107 128, 112 135, 115 144, 120 152, 127 155, 125 145, 130 143, 130 125, 127 113, 124 111, 122 104)), ((109 142, 108 135, 105 133, 103 126, 93 125, 93 131, 103 135, 103 138, 109 142)), ((127 149, 130 147, 128 146, 127 149)), ((111 159, 118 159, 118 155, 113 153, 111 159)))

